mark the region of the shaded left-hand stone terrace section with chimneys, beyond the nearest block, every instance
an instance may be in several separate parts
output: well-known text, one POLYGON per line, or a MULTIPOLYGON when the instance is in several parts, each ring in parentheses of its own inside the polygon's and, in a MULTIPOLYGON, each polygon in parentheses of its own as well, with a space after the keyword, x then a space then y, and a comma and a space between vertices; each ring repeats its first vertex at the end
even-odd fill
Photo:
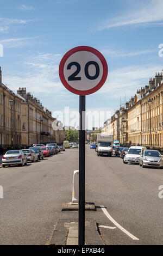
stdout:
POLYGON ((55 142, 52 113, 44 108, 36 97, 26 92, 26 88, 19 88, 17 95, 21 102, 21 132, 22 147, 29 147, 34 143, 46 144, 55 142))

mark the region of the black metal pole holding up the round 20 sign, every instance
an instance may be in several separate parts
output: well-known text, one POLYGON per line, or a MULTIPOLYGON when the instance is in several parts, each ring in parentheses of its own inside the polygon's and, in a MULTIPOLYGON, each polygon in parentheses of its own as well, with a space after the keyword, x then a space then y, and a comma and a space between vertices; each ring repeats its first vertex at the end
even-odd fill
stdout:
POLYGON ((85 245, 85 96, 79 102, 79 245, 85 245))

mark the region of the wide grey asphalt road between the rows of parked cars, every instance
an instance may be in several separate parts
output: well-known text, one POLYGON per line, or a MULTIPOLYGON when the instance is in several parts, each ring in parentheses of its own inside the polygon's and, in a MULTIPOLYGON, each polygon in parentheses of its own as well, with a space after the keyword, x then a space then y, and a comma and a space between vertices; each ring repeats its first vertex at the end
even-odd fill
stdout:
MULTIPOLYGON (((77 219, 78 212, 61 212, 62 202, 71 201, 77 169, 78 149, 25 167, 0 169, 0 244, 45 245, 59 218, 77 219)), ((95 203, 97 211, 85 217, 96 220, 106 245, 163 244, 163 199, 158 197, 162 177, 161 169, 98 157, 86 145, 86 201, 95 203)))

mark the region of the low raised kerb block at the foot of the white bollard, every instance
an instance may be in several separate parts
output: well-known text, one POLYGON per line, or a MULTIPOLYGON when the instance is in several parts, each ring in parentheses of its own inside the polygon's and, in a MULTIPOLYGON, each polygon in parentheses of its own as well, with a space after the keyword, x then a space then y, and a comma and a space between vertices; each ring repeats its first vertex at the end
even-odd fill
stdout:
MULTIPOLYGON (((62 211, 78 211, 79 204, 62 203, 62 211)), ((85 203, 85 211, 96 211, 96 206, 94 203, 85 203)))

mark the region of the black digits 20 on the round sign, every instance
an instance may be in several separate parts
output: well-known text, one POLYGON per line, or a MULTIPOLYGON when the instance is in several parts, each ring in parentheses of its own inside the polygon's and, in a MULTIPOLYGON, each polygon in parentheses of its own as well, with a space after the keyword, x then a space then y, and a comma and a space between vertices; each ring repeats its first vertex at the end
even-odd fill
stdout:
MULTIPOLYGON (((81 70, 81 66, 78 62, 71 62, 68 64, 67 66, 67 69, 71 69, 72 66, 76 66, 77 67, 77 70, 71 75, 68 77, 68 81, 79 81, 79 80, 82 80, 81 76, 78 76, 77 75, 79 74, 80 70, 81 70)), ((86 65, 85 65, 85 68, 84 68, 84 72, 85 72, 85 76, 87 79, 89 80, 95 80, 98 76, 99 76, 99 65, 97 62, 87 62, 86 65), (96 68, 96 74, 95 76, 90 76, 89 74, 89 66, 90 65, 94 65, 95 68, 96 68)))

